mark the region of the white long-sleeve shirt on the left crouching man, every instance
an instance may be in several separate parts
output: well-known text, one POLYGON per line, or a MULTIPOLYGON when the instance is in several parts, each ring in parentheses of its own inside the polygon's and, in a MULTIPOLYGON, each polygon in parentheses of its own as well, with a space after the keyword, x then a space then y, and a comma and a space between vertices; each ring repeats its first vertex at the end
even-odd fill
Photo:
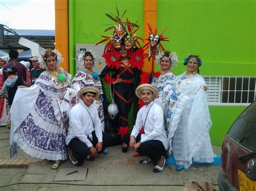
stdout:
POLYGON ((87 107, 83 102, 79 102, 69 112, 69 128, 68 135, 66 136, 66 144, 68 145, 71 139, 77 137, 88 147, 91 147, 92 144, 87 137, 92 137, 91 133, 93 131, 95 131, 98 142, 102 142, 102 128, 100 126, 97 108, 93 104, 87 107))

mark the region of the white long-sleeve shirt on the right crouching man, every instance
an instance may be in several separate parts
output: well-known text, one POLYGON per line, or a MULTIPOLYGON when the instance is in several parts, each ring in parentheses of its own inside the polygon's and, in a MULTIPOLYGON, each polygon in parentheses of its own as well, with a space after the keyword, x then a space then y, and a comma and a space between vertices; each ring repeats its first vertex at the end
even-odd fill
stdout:
POLYGON ((142 125, 144 126, 145 134, 142 134, 142 139, 140 142, 143 143, 147 140, 160 140, 160 142, 163 143, 165 149, 167 150, 168 139, 167 133, 164 129, 164 112, 158 104, 151 102, 148 105, 144 105, 139 110, 136 123, 133 126, 133 130, 131 132, 131 136, 136 138, 139 130, 142 128, 142 125))

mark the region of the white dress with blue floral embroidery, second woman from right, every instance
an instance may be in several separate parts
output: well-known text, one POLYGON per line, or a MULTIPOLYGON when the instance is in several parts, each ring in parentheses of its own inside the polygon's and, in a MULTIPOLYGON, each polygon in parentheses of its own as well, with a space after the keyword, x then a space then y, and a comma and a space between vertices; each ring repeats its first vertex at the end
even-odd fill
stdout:
POLYGON ((154 99, 164 110, 164 124, 168 134, 169 149, 167 154, 172 154, 172 137, 177 129, 181 112, 185 108, 187 96, 175 88, 175 75, 170 71, 159 77, 153 77, 151 84, 159 90, 159 97, 154 99))

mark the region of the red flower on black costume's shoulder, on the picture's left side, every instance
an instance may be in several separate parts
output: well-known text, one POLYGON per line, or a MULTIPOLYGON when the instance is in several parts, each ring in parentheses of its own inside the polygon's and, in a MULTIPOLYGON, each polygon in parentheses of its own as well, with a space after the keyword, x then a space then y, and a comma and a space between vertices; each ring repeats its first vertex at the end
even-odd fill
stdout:
POLYGON ((116 50, 113 49, 111 52, 105 52, 102 55, 102 57, 105 58, 106 65, 108 67, 110 67, 110 69, 113 69, 113 68, 119 69, 120 68, 119 60, 120 60, 121 56, 116 50))

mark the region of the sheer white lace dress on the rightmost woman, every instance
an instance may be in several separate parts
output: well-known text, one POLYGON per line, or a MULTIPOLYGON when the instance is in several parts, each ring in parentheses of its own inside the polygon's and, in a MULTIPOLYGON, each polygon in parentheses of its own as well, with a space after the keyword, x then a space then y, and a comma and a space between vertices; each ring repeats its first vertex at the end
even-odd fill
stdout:
POLYGON ((177 165, 190 167, 192 161, 213 162, 209 130, 212 125, 204 91, 205 81, 200 75, 176 77, 176 89, 189 97, 172 138, 173 156, 177 165))

